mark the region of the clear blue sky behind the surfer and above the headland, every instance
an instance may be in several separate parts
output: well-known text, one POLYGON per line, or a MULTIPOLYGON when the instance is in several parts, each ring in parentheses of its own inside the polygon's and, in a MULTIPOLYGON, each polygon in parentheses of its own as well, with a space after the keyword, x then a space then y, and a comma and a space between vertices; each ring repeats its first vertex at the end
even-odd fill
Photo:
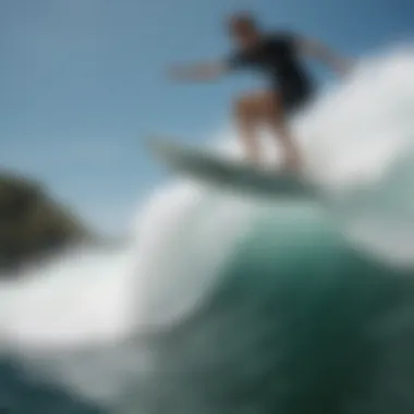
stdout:
POLYGON ((199 143, 229 121, 236 76, 174 85, 170 63, 226 56, 238 9, 363 56, 414 33, 410 0, 2 0, 0 166, 34 175, 100 228, 165 179, 143 138, 199 143))

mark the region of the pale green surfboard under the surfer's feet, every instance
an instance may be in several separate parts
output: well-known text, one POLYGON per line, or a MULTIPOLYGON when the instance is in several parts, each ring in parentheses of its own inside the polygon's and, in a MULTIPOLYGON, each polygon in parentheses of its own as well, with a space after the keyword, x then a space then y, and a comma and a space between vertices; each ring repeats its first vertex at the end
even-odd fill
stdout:
POLYGON ((297 173, 260 170, 205 148, 195 148, 165 138, 150 138, 148 146, 160 161, 175 172, 226 187, 227 191, 270 197, 318 197, 316 186, 297 173))

